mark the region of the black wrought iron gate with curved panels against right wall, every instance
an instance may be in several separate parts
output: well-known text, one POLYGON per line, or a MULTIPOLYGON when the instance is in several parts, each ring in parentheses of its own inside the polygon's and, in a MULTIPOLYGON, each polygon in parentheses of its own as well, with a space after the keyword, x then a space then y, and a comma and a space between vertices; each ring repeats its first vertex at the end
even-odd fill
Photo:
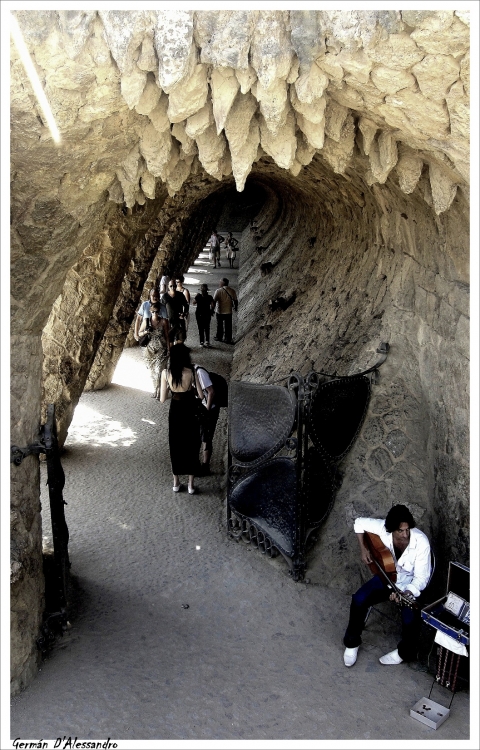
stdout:
POLYGON ((360 431, 388 350, 380 344, 379 361, 357 375, 295 373, 286 387, 230 383, 228 534, 280 552, 295 581, 305 576, 308 539, 333 506, 338 464, 360 431))

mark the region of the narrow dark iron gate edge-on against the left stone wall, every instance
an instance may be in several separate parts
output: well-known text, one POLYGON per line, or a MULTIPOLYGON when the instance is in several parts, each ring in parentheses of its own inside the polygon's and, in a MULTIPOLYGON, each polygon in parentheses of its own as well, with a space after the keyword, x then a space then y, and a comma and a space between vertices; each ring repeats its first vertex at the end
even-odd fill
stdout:
MULTIPOLYGON (((68 557, 68 527, 65 520, 66 505, 63 499, 65 474, 60 462, 55 405, 47 406, 47 419, 40 427, 38 439, 25 447, 10 447, 10 462, 20 466, 29 455, 44 453, 47 463, 47 483, 50 499, 50 518, 53 537, 53 571, 51 580, 46 582, 46 608, 43 615, 42 633, 37 639, 39 649, 45 651, 55 636, 67 627, 67 588, 70 561, 68 557)), ((49 571, 50 574, 50 571, 49 571)))

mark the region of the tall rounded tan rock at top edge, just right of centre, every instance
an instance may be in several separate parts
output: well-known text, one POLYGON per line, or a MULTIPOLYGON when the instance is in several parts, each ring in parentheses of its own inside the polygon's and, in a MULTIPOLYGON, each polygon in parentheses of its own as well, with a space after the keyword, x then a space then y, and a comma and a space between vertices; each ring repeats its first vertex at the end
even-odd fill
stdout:
POLYGON ((292 48, 287 31, 288 11, 264 10, 259 14, 250 48, 251 65, 263 91, 288 76, 292 65, 292 48))

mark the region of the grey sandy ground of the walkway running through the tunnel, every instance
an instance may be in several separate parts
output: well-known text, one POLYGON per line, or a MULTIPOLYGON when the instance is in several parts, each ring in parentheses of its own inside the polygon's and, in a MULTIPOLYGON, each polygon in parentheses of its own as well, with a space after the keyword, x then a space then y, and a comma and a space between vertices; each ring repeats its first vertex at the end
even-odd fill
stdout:
MULTIPOLYGON (((196 293, 206 280, 214 290, 223 275, 236 286, 235 271, 213 270, 202 254, 186 286, 196 293)), ((232 348, 213 333, 214 348, 201 349, 192 315, 192 358, 228 374, 232 348)), ((150 393, 142 351, 128 349, 115 383, 84 394, 76 410, 63 456, 72 626, 12 699, 10 736, 467 740, 466 692, 437 731, 410 717, 432 675, 379 664, 395 626, 372 615, 347 669, 349 597, 321 581, 295 583, 281 558, 227 537, 225 409, 214 475, 197 480, 198 495, 172 492, 169 407, 150 393)), ((432 697, 447 705, 450 694, 437 686, 432 697)))

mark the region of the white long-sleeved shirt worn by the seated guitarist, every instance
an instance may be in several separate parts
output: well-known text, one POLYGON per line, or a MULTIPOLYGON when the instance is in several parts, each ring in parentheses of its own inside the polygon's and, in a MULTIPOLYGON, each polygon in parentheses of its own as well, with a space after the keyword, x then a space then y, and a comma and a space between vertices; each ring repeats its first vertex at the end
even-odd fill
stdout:
POLYGON ((396 587, 400 591, 411 591, 414 596, 420 596, 427 585, 431 574, 430 542, 428 537, 414 527, 410 529, 410 541, 397 560, 393 549, 393 537, 385 528, 385 521, 381 518, 357 518, 354 524, 356 534, 369 531, 378 534, 382 542, 395 560, 397 569, 396 587))

